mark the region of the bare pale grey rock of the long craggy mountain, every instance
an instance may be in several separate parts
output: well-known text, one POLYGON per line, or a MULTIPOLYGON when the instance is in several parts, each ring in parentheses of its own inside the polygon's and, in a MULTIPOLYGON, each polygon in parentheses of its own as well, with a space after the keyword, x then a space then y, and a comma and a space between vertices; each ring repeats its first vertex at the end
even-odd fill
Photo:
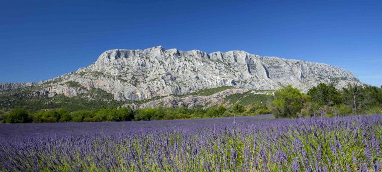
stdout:
POLYGON ((26 97, 71 98, 99 89, 111 94, 115 101, 147 103, 148 100, 172 97, 172 102, 182 106, 179 101, 184 100, 175 100, 174 96, 205 89, 231 87, 228 90, 233 93, 239 88, 246 92, 276 90, 290 84, 306 91, 321 82, 332 83, 337 88, 345 87, 347 83, 361 84, 352 72, 328 64, 260 57, 244 51, 207 54, 198 50, 185 52, 153 47, 109 50, 90 66, 54 79, 39 83, 2 83, 0 94, 9 91, 16 94, 17 90, 24 90, 21 92, 26 97))

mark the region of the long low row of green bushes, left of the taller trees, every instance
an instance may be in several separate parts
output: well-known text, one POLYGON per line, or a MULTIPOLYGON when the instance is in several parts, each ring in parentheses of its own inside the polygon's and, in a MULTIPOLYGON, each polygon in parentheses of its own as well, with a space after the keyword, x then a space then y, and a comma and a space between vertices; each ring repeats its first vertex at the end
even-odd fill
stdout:
POLYGON ((206 117, 224 117, 237 115, 259 115, 270 114, 271 110, 266 107, 253 106, 249 109, 235 104, 227 109, 224 106, 212 106, 207 109, 202 108, 146 108, 135 111, 130 108, 101 109, 98 111, 75 111, 69 113, 65 109, 53 111, 39 111, 31 114, 28 111, 18 108, 8 113, 0 112, 0 121, 5 123, 26 123, 26 122, 102 122, 102 121, 133 121, 133 120, 162 120, 162 119, 188 119, 206 117))

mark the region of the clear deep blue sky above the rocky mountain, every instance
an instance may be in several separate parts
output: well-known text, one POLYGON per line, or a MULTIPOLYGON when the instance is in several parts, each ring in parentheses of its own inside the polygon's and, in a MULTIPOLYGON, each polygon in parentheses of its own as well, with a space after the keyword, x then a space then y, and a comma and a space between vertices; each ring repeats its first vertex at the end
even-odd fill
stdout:
POLYGON ((0 0, 0 82, 39 81, 105 50, 243 50, 336 65, 382 85, 382 1, 0 0))

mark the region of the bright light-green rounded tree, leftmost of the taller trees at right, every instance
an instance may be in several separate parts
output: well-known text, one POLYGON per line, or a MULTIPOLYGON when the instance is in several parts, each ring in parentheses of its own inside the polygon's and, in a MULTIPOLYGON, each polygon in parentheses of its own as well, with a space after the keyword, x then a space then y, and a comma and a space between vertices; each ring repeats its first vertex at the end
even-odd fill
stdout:
POLYGON ((272 111, 275 117, 297 117, 307 102, 307 96, 297 88, 288 85, 275 91, 272 111))

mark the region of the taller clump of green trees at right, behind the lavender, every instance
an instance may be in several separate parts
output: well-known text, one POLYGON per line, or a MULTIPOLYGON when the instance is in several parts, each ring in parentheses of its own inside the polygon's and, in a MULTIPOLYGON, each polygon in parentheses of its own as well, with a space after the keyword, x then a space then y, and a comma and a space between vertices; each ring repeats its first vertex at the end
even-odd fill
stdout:
POLYGON ((320 83, 304 94, 289 85, 275 91, 270 105, 275 117, 382 114, 382 86, 349 84, 337 90, 320 83))

